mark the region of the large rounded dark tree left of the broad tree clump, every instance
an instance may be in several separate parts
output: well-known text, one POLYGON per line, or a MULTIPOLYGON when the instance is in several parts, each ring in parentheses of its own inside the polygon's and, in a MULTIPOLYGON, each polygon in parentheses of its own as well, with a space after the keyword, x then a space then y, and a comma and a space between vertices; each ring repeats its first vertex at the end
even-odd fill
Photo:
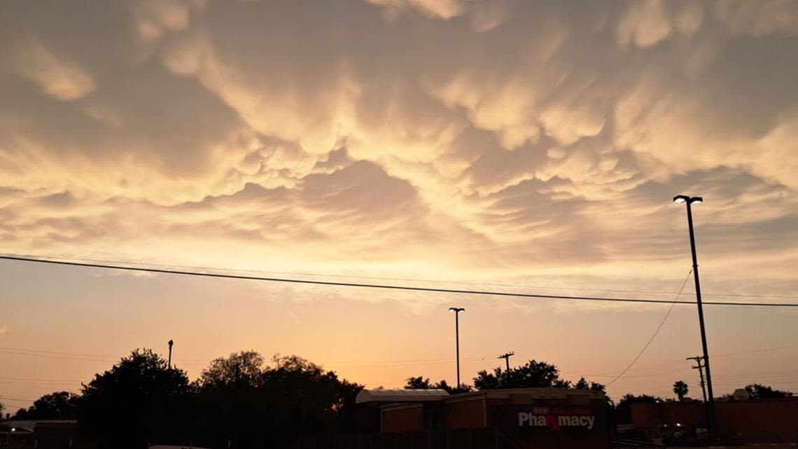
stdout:
POLYGON ((83 385, 79 422, 104 447, 182 442, 192 422, 190 392, 184 371, 168 368, 149 349, 136 349, 83 385))

